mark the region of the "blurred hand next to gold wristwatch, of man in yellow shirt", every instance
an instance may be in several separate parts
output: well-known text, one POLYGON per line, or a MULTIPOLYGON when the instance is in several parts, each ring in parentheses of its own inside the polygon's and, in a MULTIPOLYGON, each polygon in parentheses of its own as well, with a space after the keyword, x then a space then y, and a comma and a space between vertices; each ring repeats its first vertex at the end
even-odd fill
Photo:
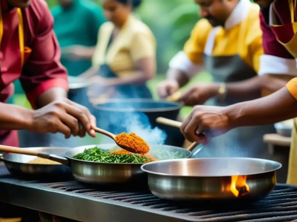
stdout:
POLYGON ((196 83, 184 91, 179 102, 185 106, 203 104, 211 97, 216 96, 218 91, 219 85, 217 83, 196 83))

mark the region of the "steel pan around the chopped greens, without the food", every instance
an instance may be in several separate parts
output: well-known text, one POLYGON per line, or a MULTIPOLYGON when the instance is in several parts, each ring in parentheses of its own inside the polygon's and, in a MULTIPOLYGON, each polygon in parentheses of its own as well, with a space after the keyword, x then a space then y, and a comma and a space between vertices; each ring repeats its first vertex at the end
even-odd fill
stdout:
MULTIPOLYGON (((100 163, 93 161, 77 160, 72 158, 85 149, 100 147, 101 149, 111 149, 115 144, 98 144, 75 147, 64 153, 64 156, 71 162, 73 176, 81 182, 104 184, 104 183, 125 183, 131 180, 141 181, 146 179, 146 173, 140 169, 142 163, 100 163)), ((116 148, 115 148, 116 150, 116 148)), ((192 153, 180 147, 168 145, 150 145, 149 154, 158 159, 172 159, 172 153, 176 153, 178 158, 187 158, 192 153), (161 152, 161 153, 160 153, 161 152), (177 153, 176 153, 177 152, 177 153)))

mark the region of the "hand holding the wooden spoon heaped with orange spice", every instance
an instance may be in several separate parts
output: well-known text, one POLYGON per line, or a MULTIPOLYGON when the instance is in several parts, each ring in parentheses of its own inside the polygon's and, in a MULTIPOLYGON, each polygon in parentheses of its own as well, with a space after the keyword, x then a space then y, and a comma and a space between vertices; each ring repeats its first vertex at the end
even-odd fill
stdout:
POLYGON ((96 126, 96 118, 90 111, 69 99, 53 101, 32 112, 28 130, 37 133, 63 133, 65 138, 83 137, 86 132, 96 137, 91 126, 96 126))

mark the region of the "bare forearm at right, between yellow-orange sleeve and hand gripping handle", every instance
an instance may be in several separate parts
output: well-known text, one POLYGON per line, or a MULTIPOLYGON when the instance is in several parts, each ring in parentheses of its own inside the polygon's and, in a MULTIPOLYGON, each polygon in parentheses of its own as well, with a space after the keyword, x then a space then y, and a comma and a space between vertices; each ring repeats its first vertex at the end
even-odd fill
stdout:
POLYGON ((294 118, 296 110, 297 100, 283 87, 269 96, 228 106, 225 114, 231 127, 257 126, 294 118))

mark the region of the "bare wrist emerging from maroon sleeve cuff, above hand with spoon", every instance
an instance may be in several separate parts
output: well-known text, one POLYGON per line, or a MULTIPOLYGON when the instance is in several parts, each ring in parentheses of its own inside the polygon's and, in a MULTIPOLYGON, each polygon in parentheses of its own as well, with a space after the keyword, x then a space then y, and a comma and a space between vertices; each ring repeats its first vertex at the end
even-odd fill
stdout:
POLYGON ((37 97, 36 107, 41 108, 53 101, 63 99, 63 98, 67 98, 66 89, 60 88, 60 87, 51 88, 37 97))

